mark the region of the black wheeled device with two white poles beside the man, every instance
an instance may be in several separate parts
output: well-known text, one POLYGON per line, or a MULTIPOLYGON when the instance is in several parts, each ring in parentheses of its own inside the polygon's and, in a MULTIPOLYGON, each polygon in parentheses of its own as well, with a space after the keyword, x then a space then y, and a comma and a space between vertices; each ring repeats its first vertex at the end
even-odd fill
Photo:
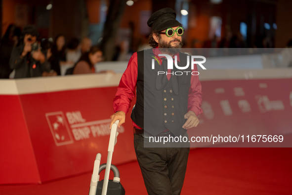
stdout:
POLYGON ((125 195, 125 189, 120 183, 120 172, 118 168, 111 164, 112 156, 114 152, 115 144, 117 143, 117 127, 119 124, 117 120, 112 125, 110 142, 108 148, 108 158, 106 164, 100 165, 101 154, 96 155, 93 167, 93 173, 91 175, 89 195, 125 195), (99 173, 105 169, 104 180, 99 181, 99 173), (114 172, 114 179, 109 180, 110 170, 114 172))

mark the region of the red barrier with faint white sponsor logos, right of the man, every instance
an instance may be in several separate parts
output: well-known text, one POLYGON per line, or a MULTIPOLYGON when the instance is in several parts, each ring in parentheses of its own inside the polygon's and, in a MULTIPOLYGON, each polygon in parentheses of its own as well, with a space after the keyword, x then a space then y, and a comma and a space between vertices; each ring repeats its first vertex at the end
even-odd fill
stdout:
MULTIPOLYGON (((292 147, 286 135, 292 134, 292 79, 254 79, 202 81, 202 109, 198 127, 188 130, 189 137, 240 136, 251 143, 252 135, 283 135, 277 147, 292 147), (285 144, 285 145, 284 145, 285 144)), ((247 141, 245 142, 247 143, 247 141)), ((275 147, 277 143, 263 143, 275 147)), ((226 144, 226 143, 215 143, 226 144)), ((227 144, 230 144, 227 143, 227 144)), ((214 146, 212 142, 193 142, 192 147, 214 146)), ((230 145, 242 147, 243 145, 230 145)))

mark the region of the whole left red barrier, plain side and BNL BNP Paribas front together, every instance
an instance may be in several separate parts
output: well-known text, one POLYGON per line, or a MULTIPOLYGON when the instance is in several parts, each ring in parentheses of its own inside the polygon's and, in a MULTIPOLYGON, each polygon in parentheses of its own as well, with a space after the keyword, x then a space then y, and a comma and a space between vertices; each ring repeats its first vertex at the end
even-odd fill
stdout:
MULTIPOLYGON (((0 184, 42 183, 88 172, 97 153, 105 163, 116 91, 1 95, 0 184)), ((112 163, 135 160, 131 122, 118 132, 112 163)))

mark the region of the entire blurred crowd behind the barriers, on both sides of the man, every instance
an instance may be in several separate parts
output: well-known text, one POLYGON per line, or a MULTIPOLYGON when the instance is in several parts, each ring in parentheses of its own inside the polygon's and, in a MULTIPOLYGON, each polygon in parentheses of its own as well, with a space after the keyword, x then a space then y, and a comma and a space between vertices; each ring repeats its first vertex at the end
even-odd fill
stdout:
MULTIPOLYGON (((196 48, 197 42, 194 40, 191 48, 196 48)), ((246 40, 240 32, 232 34, 227 30, 221 39, 214 36, 200 45, 205 48, 201 54, 210 57, 273 52, 273 43, 269 36, 265 36, 256 38, 254 46, 247 48, 246 40)), ((292 47, 292 40, 287 47, 292 47)), ((150 48, 148 36, 142 36, 137 49, 131 48, 128 41, 122 41, 113 51, 115 55, 112 60, 128 61, 134 51, 144 48, 150 48)), ((60 34, 54 39, 41 39, 33 25, 25 26, 21 30, 11 24, 0 41, 2 79, 95 73, 94 65, 103 60, 101 48, 92 46, 88 37, 67 41, 65 35, 60 34)))

